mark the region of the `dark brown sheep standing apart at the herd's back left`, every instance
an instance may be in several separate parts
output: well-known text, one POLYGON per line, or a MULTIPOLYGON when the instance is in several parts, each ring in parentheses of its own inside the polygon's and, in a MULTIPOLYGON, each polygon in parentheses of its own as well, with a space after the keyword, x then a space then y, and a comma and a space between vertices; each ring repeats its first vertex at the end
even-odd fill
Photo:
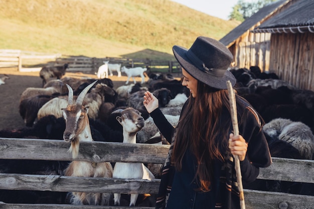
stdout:
POLYGON ((55 66, 44 66, 41 68, 39 72, 39 76, 43 79, 43 86, 46 84, 47 80, 50 77, 57 77, 60 79, 63 75, 65 75, 65 71, 68 68, 69 64, 65 63, 63 65, 55 65, 55 66))

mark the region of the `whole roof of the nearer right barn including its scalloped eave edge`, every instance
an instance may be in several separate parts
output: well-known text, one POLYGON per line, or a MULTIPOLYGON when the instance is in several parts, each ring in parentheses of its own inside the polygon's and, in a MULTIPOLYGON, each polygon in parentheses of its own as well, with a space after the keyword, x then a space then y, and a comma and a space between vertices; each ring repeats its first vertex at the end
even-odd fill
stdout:
POLYGON ((314 32, 314 0, 298 0, 270 17, 253 32, 314 32))

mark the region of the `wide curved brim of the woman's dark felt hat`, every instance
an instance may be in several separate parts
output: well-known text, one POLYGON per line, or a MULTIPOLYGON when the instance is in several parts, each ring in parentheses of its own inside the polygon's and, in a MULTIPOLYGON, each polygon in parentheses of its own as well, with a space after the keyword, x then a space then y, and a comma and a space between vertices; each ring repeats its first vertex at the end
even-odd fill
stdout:
POLYGON ((227 89, 227 81, 230 80, 232 86, 236 83, 236 79, 233 76, 233 74, 226 69, 226 72, 224 76, 218 77, 215 75, 211 75, 206 73, 205 71, 202 71, 201 69, 194 66, 194 64, 191 63, 190 59, 187 57, 188 49, 182 46, 174 45, 173 46, 173 52, 178 60, 178 62, 181 64, 181 66, 189 72, 194 78, 197 80, 218 89, 227 89))

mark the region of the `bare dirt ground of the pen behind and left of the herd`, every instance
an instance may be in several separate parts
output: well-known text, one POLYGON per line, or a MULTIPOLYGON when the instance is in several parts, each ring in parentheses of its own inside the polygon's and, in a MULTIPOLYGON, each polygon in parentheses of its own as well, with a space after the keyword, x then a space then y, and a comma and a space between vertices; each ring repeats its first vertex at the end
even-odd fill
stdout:
MULTIPOLYGON (((5 80, 5 84, 0 85, 0 129, 26 127, 19 113, 19 101, 22 92, 27 87, 42 87, 42 79, 39 76, 39 71, 21 72, 16 67, 0 67, 0 77, 3 77, 4 74, 7 74, 10 78, 5 80)), ((64 76, 97 78, 95 74, 84 74, 82 72, 66 72, 64 76)), ((121 77, 113 75, 109 76, 109 78, 113 81, 113 88, 116 89, 125 84, 127 76, 122 74, 121 77)), ((140 82, 141 77, 135 77, 135 80, 140 82)), ((145 82, 147 80, 148 77, 145 77, 145 82)), ((131 78, 129 83, 132 81, 131 78)))

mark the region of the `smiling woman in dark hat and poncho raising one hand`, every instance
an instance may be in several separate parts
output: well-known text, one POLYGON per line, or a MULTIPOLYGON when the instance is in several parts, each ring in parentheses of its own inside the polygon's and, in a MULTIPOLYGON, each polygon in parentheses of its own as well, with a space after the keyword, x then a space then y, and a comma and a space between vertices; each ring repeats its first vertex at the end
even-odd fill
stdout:
POLYGON ((221 42, 198 37, 190 49, 175 45, 182 66, 182 85, 190 89, 174 128, 149 91, 143 104, 171 147, 163 167, 156 208, 240 208, 233 154, 240 159, 242 181, 252 182, 259 167, 271 164, 261 119, 237 96, 239 135, 232 133, 226 81, 233 59, 221 42), (230 146, 230 148, 229 148, 230 146))

